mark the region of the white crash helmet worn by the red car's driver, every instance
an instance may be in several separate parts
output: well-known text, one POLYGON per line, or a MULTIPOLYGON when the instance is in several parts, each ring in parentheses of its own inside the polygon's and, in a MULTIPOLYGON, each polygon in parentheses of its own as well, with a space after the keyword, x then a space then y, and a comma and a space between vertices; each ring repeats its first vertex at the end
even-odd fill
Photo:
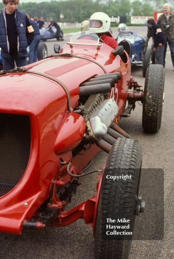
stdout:
POLYGON ((110 18, 104 12, 94 12, 89 19, 89 31, 94 33, 104 33, 109 31, 110 18))

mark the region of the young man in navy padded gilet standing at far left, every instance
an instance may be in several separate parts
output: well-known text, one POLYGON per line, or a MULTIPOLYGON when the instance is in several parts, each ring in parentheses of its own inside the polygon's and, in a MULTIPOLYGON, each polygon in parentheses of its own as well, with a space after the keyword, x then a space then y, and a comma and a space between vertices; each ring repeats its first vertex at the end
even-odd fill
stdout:
POLYGON ((0 13, 0 48, 3 69, 10 70, 27 64, 27 46, 34 38, 34 29, 26 14, 16 9, 19 0, 2 0, 0 13), (14 63, 15 62, 15 63, 14 63))

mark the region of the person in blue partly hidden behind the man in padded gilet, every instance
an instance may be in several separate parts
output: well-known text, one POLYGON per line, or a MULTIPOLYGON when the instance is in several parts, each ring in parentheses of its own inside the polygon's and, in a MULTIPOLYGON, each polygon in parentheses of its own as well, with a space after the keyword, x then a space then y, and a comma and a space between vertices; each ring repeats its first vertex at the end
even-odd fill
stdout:
POLYGON ((29 64, 31 64, 37 61, 37 48, 39 46, 39 41, 40 41, 40 31, 39 31, 39 27, 37 26, 37 23, 34 20, 31 20, 29 15, 27 16, 29 18, 31 25, 34 28, 34 39, 29 46, 29 53, 28 53, 29 64))

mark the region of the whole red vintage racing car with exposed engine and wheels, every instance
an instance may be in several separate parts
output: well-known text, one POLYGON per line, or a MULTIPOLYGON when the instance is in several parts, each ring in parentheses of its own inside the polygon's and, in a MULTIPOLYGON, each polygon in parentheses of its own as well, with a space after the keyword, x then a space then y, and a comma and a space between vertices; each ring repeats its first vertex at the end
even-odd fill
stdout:
POLYGON ((142 148, 118 123, 139 101, 143 129, 160 129, 165 70, 150 65, 143 91, 123 46, 113 50, 87 32, 54 50, 0 71, 0 232, 19 235, 81 218, 93 228, 96 259, 128 259, 135 216, 145 206, 138 195, 142 148), (81 177, 96 172, 87 168, 100 149, 109 154, 96 195, 66 209, 81 177), (113 234, 107 219, 121 229, 129 220, 130 235, 113 234))

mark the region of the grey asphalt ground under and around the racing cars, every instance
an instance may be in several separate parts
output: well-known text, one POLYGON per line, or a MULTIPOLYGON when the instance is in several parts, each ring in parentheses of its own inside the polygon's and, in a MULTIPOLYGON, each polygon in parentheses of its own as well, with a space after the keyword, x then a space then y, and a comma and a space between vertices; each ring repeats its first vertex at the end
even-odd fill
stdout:
MULTIPOLYGON (((146 35, 145 27, 133 27, 134 31, 146 35)), ((68 39, 68 36, 65 37, 68 39)), ((53 52, 50 40, 46 44, 49 54, 53 52)), ((61 45, 63 42, 61 42, 61 45)), ((136 104, 130 118, 123 118, 120 127, 143 147, 143 168, 162 168, 164 170, 165 223, 163 240, 133 241, 130 259, 173 259, 174 258, 174 69, 170 53, 167 53, 165 103, 163 107, 162 128, 157 134, 146 134, 142 129, 142 106, 136 104)), ((142 68, 132 69, 132 75, 144 85, 142 68)), ((107 154, 100 151, 93 159, 92 169, 101 169, 107 154)), ((143 177, 142 177, 143 179, 143 177)), ((82 180, 73 196, 71 207, 95 195, 96 174, 88 175, 82 180)), ((152 178, 146 178, 147 193, 151 196, 152 178)), ((141 181, 141 185, 144 185, 141 181)), ((141 189, 141 188, 140 188, 141 189)), ((157 188, 158 192, 158 188, 157 188)), ((153 199, 153 197, 151 197, 153 199)), ((154 204, 155 201, 154 201, 154 204)), ((145 212, 146 213, 146 212, 145 212)), ((144 215, 145 215, 144 213, 144 215)), ((152 206, 152 215, 158 214, 152 206)), ((151 217, 144 228, 145 236, 151 232, 151 217)), ((143 214, 137 222, 143 222, 143 214)), ((136 226, 135 226, 136 228, 136 226)), ((141 231, 141 224, 139 225, 141 231)), ((154 234, 155 235, 155 234, 154 234)), ((46 228, 44 230, 25 230, 21 236, 0 234, 0 259, 93 259, 94 240, 92 229, 78 220, 64 228, 46 228)))

